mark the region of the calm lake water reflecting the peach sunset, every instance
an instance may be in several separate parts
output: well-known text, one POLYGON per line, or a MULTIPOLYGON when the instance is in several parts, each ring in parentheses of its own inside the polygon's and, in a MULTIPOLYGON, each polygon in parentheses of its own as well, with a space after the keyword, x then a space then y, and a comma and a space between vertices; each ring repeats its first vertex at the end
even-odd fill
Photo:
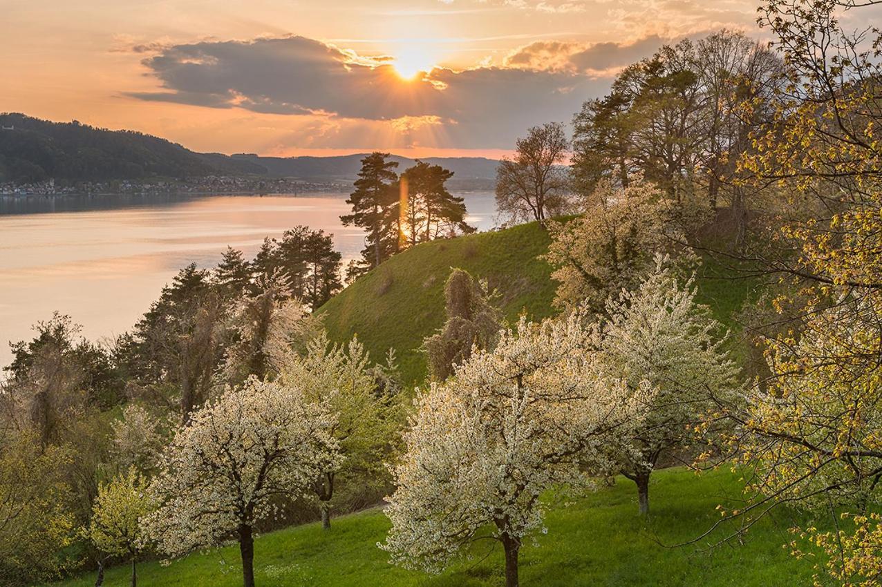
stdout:
MULTIPOLYGON (((494 224, 492 194, 467 194, 468 221, 494 224)), ((178 269, 253 256, 265 236, 302 224, 332 233, 344 264, 363 233, 342 227, 342 194, 316 196, 0 197, 0 364, 7 341, 58 310, 100 339, 131 329, 178 269)))

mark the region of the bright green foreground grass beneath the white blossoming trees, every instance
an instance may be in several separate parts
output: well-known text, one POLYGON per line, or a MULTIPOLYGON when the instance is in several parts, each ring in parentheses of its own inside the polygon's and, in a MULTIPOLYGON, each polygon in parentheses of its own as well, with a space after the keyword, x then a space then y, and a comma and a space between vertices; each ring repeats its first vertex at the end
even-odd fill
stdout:
MULTIPOLYGON (((788 514, 781 510, 754 526, 744 544, 708 548, 728 527, 696 546, 676 546, 706 531, 719 517, 717 504, 738 495, 728 471, 656 472, 651 484, 652 516, 637 513, 632 482, 617 479, 569 504, 549 509, 548 533, 527 540, 521 551, 524 587, 572 585, 702 585, 776 587, 811 584, 811 563, 797 561, 782 547, 792 539, 788 514)), ((378 509, 341 516, 331 531, 306 524, 265 534, 255 544, 258 587, 497 587, 504 584, 502 551, 482 541, 473 552, 439 576, 392 567, 376 546, 389 524, 378 509)), ((129 567, 109 568, 107 587, 128 585, 129 567)), ((238 549, 228 546, 191 554, 163 566, 141 563, 142 587, 237 587, 242 584, 238 549)), ((85 575, 55 587, 87 587, 85 575)))

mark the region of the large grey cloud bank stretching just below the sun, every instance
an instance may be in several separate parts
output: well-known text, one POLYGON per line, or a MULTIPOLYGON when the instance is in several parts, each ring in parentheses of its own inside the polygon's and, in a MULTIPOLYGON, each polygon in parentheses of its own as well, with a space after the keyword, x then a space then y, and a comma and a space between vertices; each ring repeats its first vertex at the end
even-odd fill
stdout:
POLYGON ((436 68, 407 81, 388 57, 300 36, 164 46, 142 63, 161 88, 128 97, 313 118, 314 145, 370 129, 407 145, 510 148, 528 126, 568 121, 609 88, 575 71, 513 67, 436 68))

